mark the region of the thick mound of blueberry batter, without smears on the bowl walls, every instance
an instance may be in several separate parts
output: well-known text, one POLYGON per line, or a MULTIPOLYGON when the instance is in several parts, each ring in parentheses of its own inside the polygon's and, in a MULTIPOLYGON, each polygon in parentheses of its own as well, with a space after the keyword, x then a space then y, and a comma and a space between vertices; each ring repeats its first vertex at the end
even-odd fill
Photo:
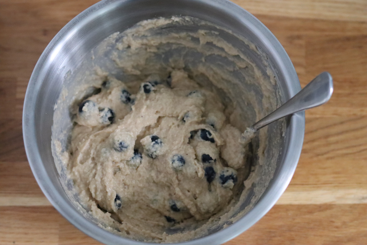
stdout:
POLYGON ((114 227, 157 239, 166 227, 227 205, 243 181, 236 170, 245 152, 218 95, 185 72, 131 86, 106 77, 79 104, 70 172, 114 227))

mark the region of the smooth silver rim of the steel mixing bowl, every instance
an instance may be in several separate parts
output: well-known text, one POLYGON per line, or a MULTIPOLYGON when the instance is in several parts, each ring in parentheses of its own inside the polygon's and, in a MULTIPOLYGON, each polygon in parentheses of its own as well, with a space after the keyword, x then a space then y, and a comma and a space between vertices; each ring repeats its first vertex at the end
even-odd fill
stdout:
MULTIPOLYGON (((48 60, 49 55, 54 54, 55 47, 66 38, 70 33, 77 28, 77 25, 82 25, 88 22, 95 15, 101 14, 101 11, 107 11, 113 8, 115 4, 126 2, 131 0, 102 0, 98 3, 87 8, 75 18, 73 18, 68 24, 66 24, 57 35, 47 45, 39 60, 34 67, 32 75, 29 80, 29 84, 26 90, 24 105, 23 105, 23 117, 22 117, 22 129, 24 146, 29 161, 30 168, 33 175, 39 184, 41 190, 51 204, 70 221, 75 227, 83 231, 83 233, 90 237, 103 242, 105 244, 127 244, 127 245, 142 245, 142 244, 156 244, 152 242, 139 242, 132 239, 124 238, 116 234, 112 234, 109 231, 104 230, 97 224, 87 220, 75 207, 65 201, 63 197, 58 193, 55 186, 52 184, 50 177, 48 176, 46 169, 41 162, 40 152, 36 141, 36 123, 34 117, 35 101, 37 100, 39 87, 41 81, 39 78, 43 78, 45 74, 44 64, 48 60)), ((289 98, 294 96, 301 90, 297 73, 294 66, 288 57, 286 51, 281 46, 276 37, 270 32, 264 24, 262 24, 257 18, 255 18, 248 11, 244 10, 235 3, 229 0, 188 0, 199 1, 211 5, 215 8, 225 8, 230 11, 233 17, 242 20, 242 23, 251 29, 256 35, 258 35, 263 42, 267 44, 267 47, 272 50, 275 56, 276 62, 280 66, 280 71, 283 72, 285 82, 288 87, 287 94, 289 98), (245 23, 246 22, 246 23, 245 23)), ((290 180, 294 174, 297 166, 299 156, 301 154, 302 144, 304 140, 305 132, 305 113, 297 112, 290 116, 290 123, 287 129, 289 137, 289 147, 284 152, 284 163, 280 169, 282 174, 273 181, 269 188, 264 192, 257 204, 246 215, 241 217, 238 221, 230 226, 223 228, 220 231, 206 235, 201 238, 196 238, 190 241, 175 243, 176 245, 194 245, 194 244, 222 244, 237 235, 243 233, 253 224, 255 224, 261 217, 263 217, 277 202, 281 194, 286 190, 290 180), (289 133, 288 133, 289 132, 289 133)), ((50 146, 51 147, 51 146, 50 146)))

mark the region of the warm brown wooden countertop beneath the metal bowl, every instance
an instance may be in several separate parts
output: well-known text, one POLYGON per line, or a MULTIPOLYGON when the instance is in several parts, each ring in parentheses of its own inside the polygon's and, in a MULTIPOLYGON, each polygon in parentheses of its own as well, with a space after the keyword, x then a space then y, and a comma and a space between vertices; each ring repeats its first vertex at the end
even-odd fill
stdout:
MULTIPOLYGON (((0 244, 99 244, 47 201, 27 162, 22 107, 52 37, 97 0, 0 0, 0 244)), ((294 177, 277 204, 226 244, 367 244, 367 1, 235 0, 279 39, 302 86, 334 78, 306 112, 294 177)))

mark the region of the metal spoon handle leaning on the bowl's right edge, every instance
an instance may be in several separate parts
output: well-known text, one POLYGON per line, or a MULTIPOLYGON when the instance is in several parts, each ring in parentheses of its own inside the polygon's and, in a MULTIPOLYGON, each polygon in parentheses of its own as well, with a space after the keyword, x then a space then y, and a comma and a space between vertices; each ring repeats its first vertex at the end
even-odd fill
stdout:
POLYGON ((276 120, 295 112, 304 111, 325 104, 333 94, 333 78, 330 73, 323 72, 278 109, 248 127, 242 134, 241 143, 247 144, 255 136, 255 132, 276 120))

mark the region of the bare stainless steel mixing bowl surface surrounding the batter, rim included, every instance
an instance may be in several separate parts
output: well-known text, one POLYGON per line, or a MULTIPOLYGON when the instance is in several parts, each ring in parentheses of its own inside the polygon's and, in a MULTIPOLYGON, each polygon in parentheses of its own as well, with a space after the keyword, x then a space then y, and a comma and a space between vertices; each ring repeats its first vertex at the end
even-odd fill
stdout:
MULTIPOLYGON (((30 167, 48 200, 73 225, 105 244, 146 243, 120 237, 97 226, 84 217, 65 194, 51 153, 54 104, 66 72, 79 65, 105 37, 144 19, 172 15, 200 18, 246 36, 267 55, 283 101, 301 89, 294 66, 275 36, 253 15, 227 0, 103 0, 77 15, 52 39, 34 68, 23 108, 23 137, 30 167)), ((221 244, 264 216, 291 180, 301 153, 304 129, 304 112, 288 118, 275 173, 254 208, 226 228, 179 244, 221 244)))

